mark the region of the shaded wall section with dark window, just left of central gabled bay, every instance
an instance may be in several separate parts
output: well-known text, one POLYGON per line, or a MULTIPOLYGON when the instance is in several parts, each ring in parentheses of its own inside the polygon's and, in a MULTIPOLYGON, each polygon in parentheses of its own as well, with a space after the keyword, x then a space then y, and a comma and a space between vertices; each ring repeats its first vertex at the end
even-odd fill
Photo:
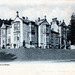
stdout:
POLYGON ((38 46, 38 26, 35 24, 35 22, 30 21, 29 27, 30 27, 30 31, 29 31, 30 45, 37 47, 38 46))

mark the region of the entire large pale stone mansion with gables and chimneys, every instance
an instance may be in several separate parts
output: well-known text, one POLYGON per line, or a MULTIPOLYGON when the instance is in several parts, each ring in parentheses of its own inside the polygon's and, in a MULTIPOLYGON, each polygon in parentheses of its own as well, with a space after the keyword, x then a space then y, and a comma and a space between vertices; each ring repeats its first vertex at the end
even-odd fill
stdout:
POLYGON ((53 18, 48 23, 46 16, 30 21, 20 17, 19 12, 11 23, 0 26, 0 48, 67 48, 67 26, 64 21, 53 18))

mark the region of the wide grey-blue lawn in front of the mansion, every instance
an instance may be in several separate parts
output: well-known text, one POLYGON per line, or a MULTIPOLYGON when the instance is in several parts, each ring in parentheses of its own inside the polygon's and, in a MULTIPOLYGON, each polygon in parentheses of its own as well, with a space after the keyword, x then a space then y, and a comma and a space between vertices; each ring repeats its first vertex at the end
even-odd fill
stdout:
POLYGON ((69 49, 1 49, 0 61, 72 61, 75 62, 75 50, 69 49))

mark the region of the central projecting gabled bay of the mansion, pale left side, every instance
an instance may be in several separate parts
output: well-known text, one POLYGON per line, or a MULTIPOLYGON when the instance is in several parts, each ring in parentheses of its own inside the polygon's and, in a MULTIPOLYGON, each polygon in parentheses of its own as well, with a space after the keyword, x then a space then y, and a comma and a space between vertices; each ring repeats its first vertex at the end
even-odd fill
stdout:
POLYGON ((46 19, 40 19, 37 20, 38 25, 38 44, 40 48, 49 48, 50 46, 50 25, 46 19))

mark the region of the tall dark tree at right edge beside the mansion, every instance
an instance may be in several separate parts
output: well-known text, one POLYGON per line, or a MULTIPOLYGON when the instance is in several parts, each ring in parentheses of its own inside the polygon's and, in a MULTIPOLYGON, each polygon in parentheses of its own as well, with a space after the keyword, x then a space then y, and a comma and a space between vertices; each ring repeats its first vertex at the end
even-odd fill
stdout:
POLYGON ((75 44, 75 13, 72 14, 70 24, 68 25, 67 40, 71 41, 71 45, 75 44))

